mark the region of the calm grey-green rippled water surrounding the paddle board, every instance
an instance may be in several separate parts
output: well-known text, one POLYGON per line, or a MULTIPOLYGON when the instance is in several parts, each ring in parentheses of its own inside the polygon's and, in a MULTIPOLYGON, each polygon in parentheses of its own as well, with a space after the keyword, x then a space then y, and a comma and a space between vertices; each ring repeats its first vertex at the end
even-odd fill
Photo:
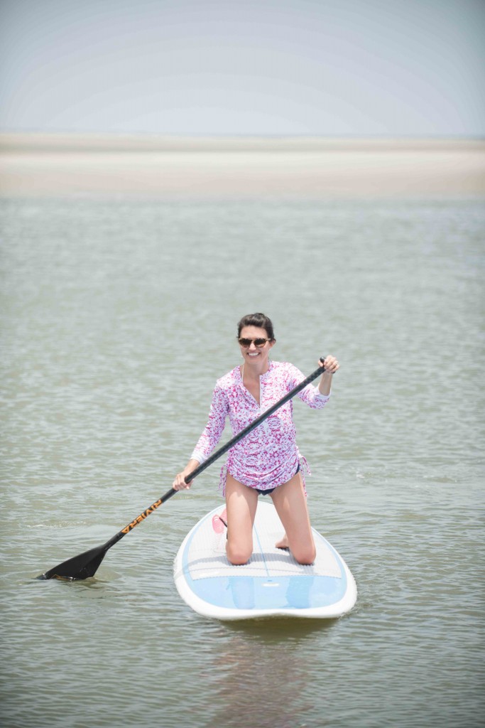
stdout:
POLYGON ((483 205, 1 213, 5 728, 483 725, 483 205), (253 310, 276 360, 342 363, 331 405, 295 419, 356 609, 244 626, 185 606, 172 562, 217 505, 218 464, 95 579, 34 579, 167 491, 253 310))

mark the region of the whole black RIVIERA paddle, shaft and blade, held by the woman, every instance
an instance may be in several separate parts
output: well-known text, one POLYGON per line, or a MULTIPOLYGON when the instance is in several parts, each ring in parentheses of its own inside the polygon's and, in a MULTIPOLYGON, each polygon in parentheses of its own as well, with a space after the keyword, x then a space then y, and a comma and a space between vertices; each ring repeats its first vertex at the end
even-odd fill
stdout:
MULTIPOLYGON (((323 363, 324 357, 321 357, 320 361, 323 363)), ((235 435, 232 440, 229 440, 222 448, 216 450, 215 453, 207 458, 207 460, 199 465, 199 467, 196 467, 195 470, 186 475, 185 483, 190 483, 191 480, 197 477, 197 475, 200 475, 203 470, 206 470, 209 465, 212 465, 215 460, 217 460, 218 458, 220 458, 221 455, 230 450, 234 445, 236 445, 236 443, 239 443, 239 440, 245 438, 246 435, 249 434, 249 432, 254 430, 255 427, 260 425, 265 419, 272 415, 273 412, 275 412, 278 408, 284 405, 288 400, 291 400, 294 395, 296 395, 302 389, 305 389, 307 384, 310 384, 310 381, 313 381, 313 379, 316 379, 317 376, 320 376, 320 374, 322 373, 324 373, 324 369, 319 366, 318 369, 310 374, 310 376, 308 376, 306 379, 303 379, 303 381, 301 381, 300 384, 297 385, 297 387, 294 387, 291 392, 288 392, 286 395, 284 395, 284 397, 281 397, 281 400, 276 402, 276 404, 272 405, 262 415, 257 417, 254 422, 248 424, 247 427, 244 427, 244 430, 238 432, 238 434, 235 435)), ((63 561, 63 563, 55 566, 54 569, 49 569, 49 571, 46 571, 44 574, 41 574, 37 578, 71 579, 71 581, 73 581, 75 579, 88 579, 89 577, 94 576, 97 571, 97 567, 100 565, 101 561, 103 561, 103 558, 105 558, 108 549, 111 549, 111 547, 118 543, 120 539, 129 534, 129 531, 132 531, 132 529, 134 529, 135 526, 138 525, 138 523, 145 521, 145 518, 148 518, 148 516, 153 513, 154 510, 156 510, 162 503, 167 502, 169 498, 175 496, 176 493, 178 493, 178 491, 174 490, 174 488, 170 488, 170 490, 167 491, 166 494, 164 494, 163 496, 161 496, 161 498, 152 503, 150 507, 144 510, 143 513, 140 513, 140 515, 138 515, 134 521, 128 523, 128 526, 125 526, 124 529, 121 529, 119 533, 113 536, 112 539, 109 539, 109 541, 103 544, 103 546, 89 549, 89 551, 84 551, 84 553, 79 554, 79 556, 69 558, 68 561, 63 561)))

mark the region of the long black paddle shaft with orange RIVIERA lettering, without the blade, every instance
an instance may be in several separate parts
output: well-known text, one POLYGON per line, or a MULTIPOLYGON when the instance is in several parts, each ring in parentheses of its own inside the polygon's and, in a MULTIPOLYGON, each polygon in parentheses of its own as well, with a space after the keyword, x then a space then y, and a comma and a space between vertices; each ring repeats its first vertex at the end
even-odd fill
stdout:
MULTIPOLYGON (((323 359, 322 359, 323 361, 323 359)), ((255 430, 258 425, 260 425, 262 422, 264 422, 265 419, 270 417, 273 412, 276 412, 277 409, 282 407, 288 400, 291 400, 294 395, 297 395, 298 392, 301 392, 302 389, 305 389, 305 387, 310 384, 310 382, 313 381, 313 379, 316 379, 318 376, 324 373, 324 368, 319 366, 318 369, 316 369, 313 373, 311 373, 309 376, 307 376, 306 379, 303 379, 303 381, 300 381, 300 384, 297 384, 294 389, 292 389, 290 392, 288 392, 284 397, 281 397, 281 400, 278 400, 274 405, 272 405, 268 410, 263 412, 262 415, 257 417, 253 422, 248 424, 246 427, 244 427, 241 432, 238 432, 237 435, 234 435, 234 437, 229 440, 225 445, 223 445, 222 448, 219 448, 219 450, 216 450, 215 453, 213 453, 211 456, 207 458, 206 461, 201 463, 198 467, 196 467, 195 470, 190 472, 188 475, 185 476, 185 483, 190 483, 191 480, 197 477, 197 475, 200 475, 201 472, 204 472, 209 465, 212 465, 213 462, 215 462, 217 459, 220 458, 223 454, 225 454, 228 450, 231 450, 231 448, 236 445, 236 443, 239 443, 239 440, 242 440, 246 437, 246 435, 249 435, 249 432, 252 432, 252 430, 255 430)), ((153 513, 154 510, 156 510, 159 506, 162 505, 162 503, 167 502, 169 498, 172 498, 172 496, 175 496, 175 494, 178 493, 178 491, 175 490, 175 488, 170 488, 167 493, 165 493, 161 498, 159 498, 157 501, 152 503, 151 506, 149 506, 146 510, 143 511, 143 513, 140 513, 140 515, 135 518, 134 521, 131 523, 128 523, 128 526, 125 526, 124 529, 121 529, 119 533, 116 534, 116 536, 113 536, 112 539, 107 541, 105 543, 105 550, 108 550, 108 548, 111 548, 111 546, 115 545, 117 542, 119 542, 120 539, 122 539, 124 536, 129 534, 129 531, 132 531, 132 529, 135 528, 135 526, 138 525, 138 523, 141 523, 142 521, 145 521, 145 518, 148 518, 148 516, 153 513)))

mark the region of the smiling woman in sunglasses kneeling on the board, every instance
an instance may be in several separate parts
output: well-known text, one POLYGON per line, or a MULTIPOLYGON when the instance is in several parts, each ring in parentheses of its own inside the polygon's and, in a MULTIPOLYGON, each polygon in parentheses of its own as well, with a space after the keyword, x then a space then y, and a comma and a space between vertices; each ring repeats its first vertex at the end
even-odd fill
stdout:
MULTIPOLYGON (((185 483, 185 477, 209 457, 222 435, 226 416, 236 435, 305 379, 292 364, 269 360, 276 339, 273 324, 265 314, 241 318, 238 340, 243 363, 217 380, 209 422, 185 469, 177 474, 173 482, 175 490, 190 488, 191 483, 185 483)), ((322 408, 328 402, 332 374, 339 368, 333 356, 318 363, 323 370, 318 388, 308 384, 298 393, 312 408, 322 408)), ((227 506, 226 551, 228 560, 235 565, 244 564, 251 557, 252 526, 259 494, 271 496, 285 529, 276 547, 289 548, 299 563, 315 561, 303 477, 306 462, 297 448, 292 411, 292 400, 289 400, 236 443, 221 471, 227 506)))

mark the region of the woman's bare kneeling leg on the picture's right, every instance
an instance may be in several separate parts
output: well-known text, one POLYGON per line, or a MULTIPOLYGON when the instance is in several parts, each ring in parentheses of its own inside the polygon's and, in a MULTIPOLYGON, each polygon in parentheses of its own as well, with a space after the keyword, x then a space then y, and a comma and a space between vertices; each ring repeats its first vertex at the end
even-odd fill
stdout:
POLYGON ((284 537, 276 546, 288 547, 298 563, 313 563, 316 548, 300 473, 297 472, 287 483, 278 486, 271 498, 285 530, 284 537))

